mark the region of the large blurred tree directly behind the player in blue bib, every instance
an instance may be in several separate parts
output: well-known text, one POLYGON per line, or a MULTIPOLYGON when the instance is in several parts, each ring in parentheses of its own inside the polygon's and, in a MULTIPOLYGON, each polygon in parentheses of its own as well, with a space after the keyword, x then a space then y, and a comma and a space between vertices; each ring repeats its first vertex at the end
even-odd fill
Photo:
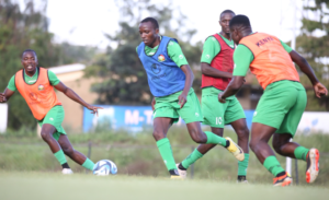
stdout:
POLYGON ((190 44, 195 30, 184 28, 185 16, 179 9, 175 9, 178 19, 172 17, 173 7, 170 2, 163 5, 154 4, 150 0, 117 0, 116 3, 122 15, 120 31, 114 36, 106 36, 117 44, 117 48, 109 47, 104 55, 99 55, 93 64, 87 68, 86 74, 100 75, 104 80, 91 87, 92 92, 99 94, 99 104, 149 104, 152 96, 146 72, 136 54, 136 47, 141 42, 138 33, 141 15, 147 13, 156 17, 160 33, 179 40, 190 66, 200 62, 202 47, 200 44, 190 44), (174 22, 177 27, 173 26, 174 22))

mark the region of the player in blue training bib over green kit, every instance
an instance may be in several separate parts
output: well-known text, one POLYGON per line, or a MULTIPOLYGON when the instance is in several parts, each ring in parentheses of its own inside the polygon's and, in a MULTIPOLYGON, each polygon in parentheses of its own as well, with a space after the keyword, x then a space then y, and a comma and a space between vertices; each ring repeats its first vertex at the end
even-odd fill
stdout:
POLYGON ((144 19, 139 24, 143 39, 136 48, 145 68, 148 84, 155 98, 154 138, 171 178, 181 178, 167 137, 169 127, 181 116, 186 122, 191 138, 196 143, 219 144, 243 161, 242 150, 229 138, 213 132, 203 132, 200 121, 203 115, 198 99, 191 87, 193 72, 174 38, 159 35, 159 25, 154 17, 144 19))

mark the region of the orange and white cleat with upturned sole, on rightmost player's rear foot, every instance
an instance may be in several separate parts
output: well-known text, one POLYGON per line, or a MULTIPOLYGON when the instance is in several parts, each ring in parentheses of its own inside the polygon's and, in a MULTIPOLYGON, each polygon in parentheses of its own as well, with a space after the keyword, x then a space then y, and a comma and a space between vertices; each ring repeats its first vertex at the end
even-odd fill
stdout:
POLYGON ((317 149, 310 149, 308 154, 306 155, 306 181, 307 184, 311 184, 315 181, 319 174, 319 158, 320 153, 317 149))

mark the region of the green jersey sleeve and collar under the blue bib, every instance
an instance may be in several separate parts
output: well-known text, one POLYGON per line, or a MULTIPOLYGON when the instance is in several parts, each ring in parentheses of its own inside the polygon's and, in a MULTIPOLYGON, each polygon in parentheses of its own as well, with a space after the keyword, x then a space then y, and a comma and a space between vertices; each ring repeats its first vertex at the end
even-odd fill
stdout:
MULTIPOLYGON (((155 48, 151 48, 151 47, 148 47, 148 46, 145 46, 145 54, 147 56, 154 56, 157 50, 159 48, 159 45, 156 46, 155 48)), ((137 48, 136 48, 136 51, 137 51, 137 48)), ((167 46, 167 51, 168 51, 168 56, 170 57, 170 59, 172 61, 174 61, 174 63, 178 66, 178 67, 182 67, 184 64, 189 64, 180 45, 175 42, 169 42, 168 46, 167 46)))

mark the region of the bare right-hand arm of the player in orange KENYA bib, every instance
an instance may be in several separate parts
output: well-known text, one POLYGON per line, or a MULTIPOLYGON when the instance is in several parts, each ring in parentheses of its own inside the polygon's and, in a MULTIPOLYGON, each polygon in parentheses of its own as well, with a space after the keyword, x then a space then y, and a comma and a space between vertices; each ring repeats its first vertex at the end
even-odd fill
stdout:
POLYGON ((316 96, 320 98, 324 95, 328 95, 328 90, 319 82, 307 60, 295 50, 292 50, 290 55, 292 60, 298 64, 300 70, 308 77, 313 84, 316 96))

